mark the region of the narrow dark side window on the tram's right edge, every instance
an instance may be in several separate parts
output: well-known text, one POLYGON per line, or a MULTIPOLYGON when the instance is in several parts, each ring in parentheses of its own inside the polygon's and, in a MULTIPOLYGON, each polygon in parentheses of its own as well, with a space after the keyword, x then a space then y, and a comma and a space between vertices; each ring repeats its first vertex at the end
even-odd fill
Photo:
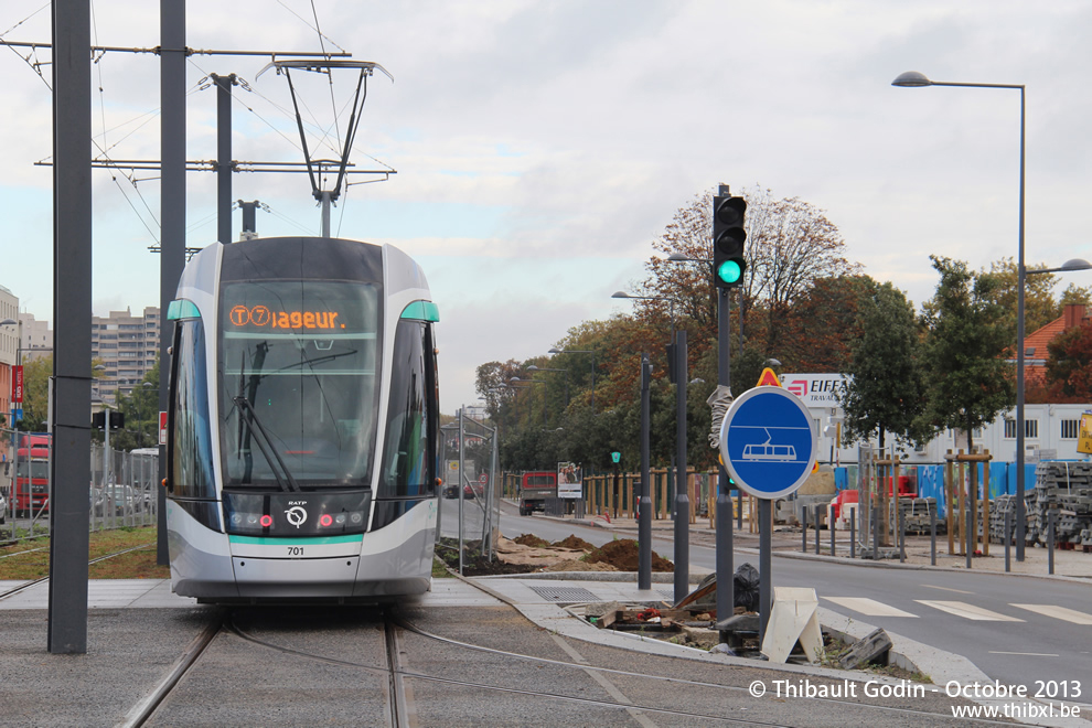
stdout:
POLYGON ((435 372, 429 324, 399 321, 383 471, 376 493, 379 499, 435 494, 433 458, 429 454, 435 452, 439 417, 435 372))

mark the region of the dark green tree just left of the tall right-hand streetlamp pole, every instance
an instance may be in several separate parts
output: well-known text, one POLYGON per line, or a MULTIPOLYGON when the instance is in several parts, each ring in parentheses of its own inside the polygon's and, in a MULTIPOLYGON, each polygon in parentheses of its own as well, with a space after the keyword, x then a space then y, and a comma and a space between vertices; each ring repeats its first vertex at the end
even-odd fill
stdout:
POLYGON ((977 276, 965 263, 930 256, 941 279, 925 307, 923 346, 929 382, 923 426, 959 428, 974 448, 974 430, 1016 402, 1007 312, 997 302, 996 275, 977 276))

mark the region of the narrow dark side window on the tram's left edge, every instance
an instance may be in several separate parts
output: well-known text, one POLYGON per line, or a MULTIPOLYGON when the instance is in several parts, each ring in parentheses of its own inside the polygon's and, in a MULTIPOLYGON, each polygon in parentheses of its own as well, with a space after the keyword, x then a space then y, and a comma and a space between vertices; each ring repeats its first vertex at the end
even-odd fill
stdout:
POLYGON ((173 497, 215 499, 212 433, 208 427, 208 377, 205 375, 205 332, 201 319, 180 321, 171 362, 174 383, 171 418, 170 483, 173 497))

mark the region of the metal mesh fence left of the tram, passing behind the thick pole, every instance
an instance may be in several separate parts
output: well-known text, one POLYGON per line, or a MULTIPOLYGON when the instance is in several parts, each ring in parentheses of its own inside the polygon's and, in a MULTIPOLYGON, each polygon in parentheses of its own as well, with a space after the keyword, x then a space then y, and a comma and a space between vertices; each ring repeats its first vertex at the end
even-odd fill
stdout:
MULTIPOLYGON (((50 534, 53 448, 49 436, 0 430, 0 538, 50 534)), ((105 531, 157 523, 159 452, 122 452, 92 443, 88 528, 105 531)))

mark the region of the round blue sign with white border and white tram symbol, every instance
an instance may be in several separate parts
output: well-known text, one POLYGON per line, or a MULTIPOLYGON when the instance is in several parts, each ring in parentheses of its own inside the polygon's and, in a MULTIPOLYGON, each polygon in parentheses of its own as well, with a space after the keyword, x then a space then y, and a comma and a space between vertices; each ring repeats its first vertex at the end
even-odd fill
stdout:
POLYGON ((811 413, 781 387, 748 389, 720 425, 720 457, 736 484, 751 495, 789 495, 815 465, 811 413))

